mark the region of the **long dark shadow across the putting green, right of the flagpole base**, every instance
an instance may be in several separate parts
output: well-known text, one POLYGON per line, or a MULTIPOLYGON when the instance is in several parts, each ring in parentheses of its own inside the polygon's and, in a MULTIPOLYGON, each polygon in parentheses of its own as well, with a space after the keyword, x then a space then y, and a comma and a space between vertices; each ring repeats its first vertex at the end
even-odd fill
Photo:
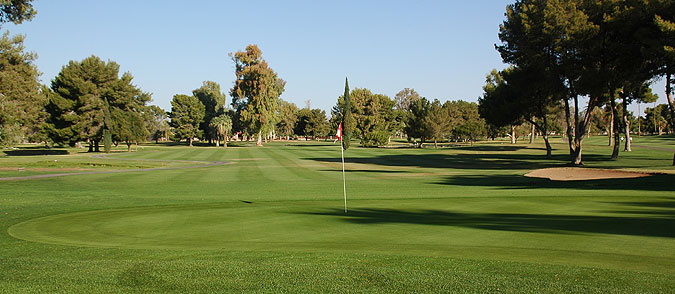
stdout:
POLYGON ((558 234, 614 234, 675 238, 672 217, 618 217, 522 213, 465 213, 442 210, 341 209, 306 212, 355 224, 418 224, 485 230, 558 234))

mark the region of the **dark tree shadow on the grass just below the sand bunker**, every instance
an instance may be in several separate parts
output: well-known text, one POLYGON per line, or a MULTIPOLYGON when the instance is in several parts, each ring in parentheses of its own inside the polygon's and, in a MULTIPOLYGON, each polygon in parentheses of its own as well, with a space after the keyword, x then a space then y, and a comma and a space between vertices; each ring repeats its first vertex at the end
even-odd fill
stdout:
POLYGON ((455 175, 436 184, 473 187, 500 187, 504 189, 581 189, 581 190, 675 190, 675 175, 657 174, 643 178, 601 179, 584 181, 552 181, 520 175, 455 175))

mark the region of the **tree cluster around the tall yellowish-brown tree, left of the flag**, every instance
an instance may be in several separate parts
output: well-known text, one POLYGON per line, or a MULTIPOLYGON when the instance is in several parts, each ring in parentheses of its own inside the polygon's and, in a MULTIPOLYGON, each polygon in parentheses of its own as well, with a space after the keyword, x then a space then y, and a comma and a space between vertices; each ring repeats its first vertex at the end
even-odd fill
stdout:
MULTIPOLYGON (((215 82, 204 82, 193 96, 175 95, 169 113, 174 138, 185 139, 192 145, 193 138, 213 139, 216 145, 230 135, 244 140, 263 140, 278 136, 323 137, 330 127, 326 112, 320 109, 299 109, 295 104, 279 98, 286 82, 280 79, 262 58, 256 45, 245 51, 230 54, 235 63, 236 80, 230 89, 232 108, 225 105, 226 96, 215 82)), ((227 142, 225 142, 225 146, 227 142)))

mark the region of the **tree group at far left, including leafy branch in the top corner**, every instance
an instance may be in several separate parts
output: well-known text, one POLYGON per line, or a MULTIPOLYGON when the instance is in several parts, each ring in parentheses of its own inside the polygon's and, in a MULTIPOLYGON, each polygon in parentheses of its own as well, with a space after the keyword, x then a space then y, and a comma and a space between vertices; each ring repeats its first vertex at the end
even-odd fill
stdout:
MULTIPOLYGON (((31 0, 0 3, 0 25, 32 19, 31 0)), ((147 106, 150 94, 132 84, 130 73, 119 75, 119 65, 96 56, 71 61, 52 80, 40 84, 35 53, 26 52, 24 36, 0 39, 0 144, 47 142, 75 145, 86 141, 98 151, 104 142, 145 140, 147 121, 162 115, 147 106)))

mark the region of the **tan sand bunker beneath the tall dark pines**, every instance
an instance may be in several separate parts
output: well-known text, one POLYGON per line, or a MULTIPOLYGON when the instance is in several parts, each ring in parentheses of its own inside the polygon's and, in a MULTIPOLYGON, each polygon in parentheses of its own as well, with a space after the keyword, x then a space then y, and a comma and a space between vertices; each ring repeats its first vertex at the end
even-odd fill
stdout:
POLYGON ((546 178, 553 181, 583 181, 600 179, 628 179, 648 177, 651 174, 639 172, 625 172, 608 169, 592 169, 581 167, 556 167, 531 171, 526 177, 546 178))

